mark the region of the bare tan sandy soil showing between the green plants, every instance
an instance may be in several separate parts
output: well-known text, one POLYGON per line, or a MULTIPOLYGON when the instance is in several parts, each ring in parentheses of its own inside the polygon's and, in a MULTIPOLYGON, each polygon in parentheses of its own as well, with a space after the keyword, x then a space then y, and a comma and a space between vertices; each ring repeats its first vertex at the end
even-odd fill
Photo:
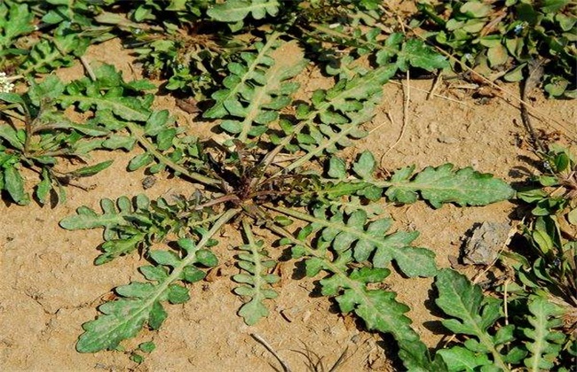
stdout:
MULTIPOLYGON (((87 59, 93 63, 107 62, 123 70, 126 78, 136 77, 138 67, 130 66, 131 58, 117 41, 91 47, 87 59)), ((59 74, 73 79, 83 74, 81 66, 59 74)), ((303 74, 300 78, 307 90, 326 86, 319 74, 303 74)), ((409 164, 417 168, 451 162, 457 167, 476 167, 493 173, 508 182, 519 182, 535 171, 529 160, 536 159, 524 141, 526 132, 520 123, 518 103, 497 90, 489 96, 471 98, 478 90, 459 88, 458 81, 440 84, 436 92, 443 97, 427 99, 432 81, 411 81, 410 103, 406 124, 403 124, 403 89, 397 83, 384 87, 383 103, 369 129, 370 136, 357 147, 344 152, 348 157, 369 149, 382 158, 382 167, 394 170, 409 164), (392 122, 389 119, 392 118, 392 122), (399 139, 399 141, 398 141, 399 139)), ((504 86, 518 96, 518 87, 504 86)), ((553 135, 577 136, 577 106, 570 101, 553 101, 535 92, 532 105, 543 120, 534 119, 535 126, 553 135)), ((173 109, 170 97, 161 97, 159 107, 173 109)), ((184 120, 184 119, 183 119, 184 120)), ((208 126, 200 125, 202 136, 208 126)), ((280 364, 263 345, 250 336, 257 334, 273 346, 294 371, 306 370, 307 351, 312 360, 320 358, 328 369, 347 352, 347 359, 338 370, 392 370, 391 344, 355 324, 352 319, 332 311, 324 298, 309 295, 314 283, 310 280, 288 280, 294 267, 282 267, 283 280, 278 288, 280 298, 272 306, 272 314, 257 326, 246 326, 235 313, 241 301, 231 293, 233 283, 226 278, 208 285, 191 286, 191 301, 184 305, 166 306, 169 318, 159 332, 144 332, 128 343, 128 348, 153 339, 156 350, 137 365, 125 353, 81 354, 75 352, 76 337, 81 325, 94 318, 96 306, 117 285, 138 278, 141 264, 131 256, 101 267, 92 261, 98 255, 101 231, 65 231, 59 220, 74 213, 80 205, 97 207, 100 198, 133 196, 143 192, 142 173, 126 173, 124 168, 133 154, 102 152, 95 161, 115 159, 112 167, 83 180, 95 185, 85 192, 68 189, 66 205, 54 209, 38 205, 19 207, 0 205, 0 368, 5 371, 52 370, 154 370, 154 371, 269 371, 280 370, 280 364), (316 356, 314 356, 316 355, 316 356)), ((180 192, 189 194, 186 182, 162 178, 144 191, 151 198, 180 192)), ((416 244, 437 253, 439 267, 449 266, 447 257, 458 255, 462 236, 474 223, 510 221, 515 205, 509 202, 486 207, 460 208, 445 205, 438 210, 424 203, 394 207, 387 210, 397 229, 421 232, 416 244)), ((234 275, 234 234, 218 248, 223 276, 234 275)), ((473 273, 474 274, 474 273, 473 273)), ((431 314, 431 279, 404 279, 393 275, 388 280, 398 299, 411 307, 408 314, 415 330, 427 345, 435 347, 443 337, 438 319, 431 314)), ((386 341, 386 340, 385 340, 386 341)))

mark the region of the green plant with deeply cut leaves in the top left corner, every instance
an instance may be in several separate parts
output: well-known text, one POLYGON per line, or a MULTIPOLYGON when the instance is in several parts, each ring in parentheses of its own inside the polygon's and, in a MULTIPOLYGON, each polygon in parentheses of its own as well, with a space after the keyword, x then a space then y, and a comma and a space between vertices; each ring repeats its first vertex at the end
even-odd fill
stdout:
POLYGON ((7 0, 0 4, 0 71, 15 76, 44 74, 72 66, 91 43, 114 35, 94 16, 93 2, 7 0))

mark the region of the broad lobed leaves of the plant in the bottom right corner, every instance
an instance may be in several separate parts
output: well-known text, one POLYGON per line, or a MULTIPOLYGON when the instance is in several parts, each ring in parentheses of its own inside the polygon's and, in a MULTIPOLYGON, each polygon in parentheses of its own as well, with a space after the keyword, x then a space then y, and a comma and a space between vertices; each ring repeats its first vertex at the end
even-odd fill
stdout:
POLYGON ((448 315, 441 321, 454 335, 466 337, 462 344, 437 352, 448 371, 515 368, 570 370, 572 364, 564 347, 571 347, 563 332, 565 311, 541 296, 530 296, 503 322, 503 301, 487 297, 478 285, 451 269, 435 279, 439 291, 435 303, 448 315))

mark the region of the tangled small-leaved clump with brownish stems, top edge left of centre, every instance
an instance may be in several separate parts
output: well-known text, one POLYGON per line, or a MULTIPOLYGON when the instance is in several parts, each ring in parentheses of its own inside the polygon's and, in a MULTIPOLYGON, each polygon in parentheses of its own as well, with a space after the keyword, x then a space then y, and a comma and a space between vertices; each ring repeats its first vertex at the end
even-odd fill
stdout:
POLYGON ((213 27, 202 25, 209 22, 208 5, 203 1, 171 1, 164 5, 146 1, 127 7, 125 15, 106 9, 96 20, 124 35, 124 45, 138 55, 149 77, 165 79, 164 88, 178 95, 192 93, 200 101, 217 85, 233 56, 249 49, 228 33, 214 34, 213 27))

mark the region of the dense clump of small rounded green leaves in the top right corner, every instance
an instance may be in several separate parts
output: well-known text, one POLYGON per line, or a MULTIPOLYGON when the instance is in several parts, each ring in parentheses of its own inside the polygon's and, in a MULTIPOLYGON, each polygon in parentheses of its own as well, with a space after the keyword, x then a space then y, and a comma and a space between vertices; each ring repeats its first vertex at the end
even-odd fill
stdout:
MULTIPOLYGON (((425 37, 492 80, 521 81, 543 62, 551 97, 574 97, 575 22, 570 1, 419 1, 425 37)), ((458 69, 458 66, 456 66, 458 69)))

